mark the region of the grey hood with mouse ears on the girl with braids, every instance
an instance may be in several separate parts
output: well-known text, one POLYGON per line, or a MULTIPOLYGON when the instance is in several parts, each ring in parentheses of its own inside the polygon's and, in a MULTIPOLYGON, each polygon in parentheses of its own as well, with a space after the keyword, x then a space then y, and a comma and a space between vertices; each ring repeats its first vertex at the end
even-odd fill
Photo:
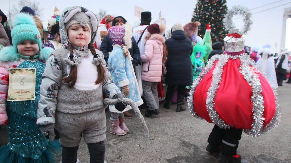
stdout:
MULTIPOLYGON (((69 21, 73 15, 77 12, 84 12, 89 18, 90 23, 92 25, 92 32, 91 32, 91 41, 92 43, 95 43, 95 37, 98 30, 98 18, 97 16, 87 8, 81 7, 81 6, 73 6, 73 7, 66 7, 60 16, 59 25, 60 25, 60 37, 62 44, 68 44, 68 34, 67 30, 65 29, 65 21, 69 21)), ((89 27, 88 27, 89 28, 89 27)))

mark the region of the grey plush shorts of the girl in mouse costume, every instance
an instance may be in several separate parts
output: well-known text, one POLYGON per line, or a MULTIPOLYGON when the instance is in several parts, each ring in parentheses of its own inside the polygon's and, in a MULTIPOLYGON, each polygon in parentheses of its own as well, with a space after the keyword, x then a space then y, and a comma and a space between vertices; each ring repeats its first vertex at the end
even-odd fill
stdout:
POLYGON ((67 114, 56 110, 55 128, 60 132, 60 144, 76 147, 81 137, 85 143, 98 143, 106 139, 105 109, 78 114, 67 114))

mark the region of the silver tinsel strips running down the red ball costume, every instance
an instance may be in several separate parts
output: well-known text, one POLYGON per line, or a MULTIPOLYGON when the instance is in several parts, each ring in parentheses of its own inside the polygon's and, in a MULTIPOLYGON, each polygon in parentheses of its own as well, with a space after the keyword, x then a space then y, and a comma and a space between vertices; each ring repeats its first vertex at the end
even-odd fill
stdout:
MULTIPOLYGON (((240 67, 238 68, 240 73, 244 76, 244 79, 249 83, 251 86, 251 90, 253 95, 251 96, 251 102, 253 104, 253 123, 251 125, 252 129, 245 129, 244 132, 247 135, 252 135, 253 137, 259 136, 263 132, 269 131, 271 128, 276 127, 279 124, 280 121, 280 106, 278 103, 278 96, 277 92, 275 89, 273 89, 275 100, 276 100, 276 111, 274 114, 274 117, 272 120, 264 127, 264 99, 262 96, 262 85, 258 79, 258 76, 254 71, 260 70, 258 67, 256 67, 255 62, 251 60, 249 55, 247 54, 242 54, 242 55, 214 55, 207 63, 207 66, 205 69, 201 72, 201 74, 198 76, 197 79, 193 82, 191 86, 191 90, 189 92, 188 96, 188 108, 190 109, 190 112, 193 116, 202 119, 199 117, 196 112, 195 108, 193 105, 193 95, 195 92, 195 88, 198 86, 199 82, 203 79, 203 77, 209 72, 209 70, 214 66, 215 61, 219 60, 215 68, 213 70, 213 76, 212 76, 212 81, 211 85, 207 91, 207 98, 206 98, 206 108, 207 111, 209 112, 210 119, 212 120, 213 123, 217 124, 220 128, 230 128, 232 127, 229 124, 224 123, 222 119, 219 118, 219 114, 217 111, 214 109, 214 99, 216 96, 216 91, 219 88, 219 84, 221 82, 221 75, 223 71, 224 65, 227 63, 228 59, 237 59, 239 58, 241 61, 240 67), (253 68, 252 68, 252 67, 253 68), (256 70, 255 70, 256 69, 256 70)), ((260 72, 260 71, 259 71, 260 72)), ((195 101, 194 101, 195 102, 195 101)))

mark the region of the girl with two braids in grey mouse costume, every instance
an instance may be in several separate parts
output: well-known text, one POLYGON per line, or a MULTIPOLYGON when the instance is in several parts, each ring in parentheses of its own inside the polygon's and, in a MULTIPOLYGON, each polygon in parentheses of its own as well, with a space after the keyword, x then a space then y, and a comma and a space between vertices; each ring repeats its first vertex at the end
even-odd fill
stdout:
MULTIPOLYGON (((65 48, 54 50, 41 83, 37 124, 50 140, 60 132, 62 162, 78 162, 83 136, 91 163, 104 163, 106 117, 103 94, 121 100, 124 95, 112 81, 102 52, 93 46, 98 19, 84 7, 67 7, 60 16, 65 48)), ((121 103, 121 111, 125 105, 121 103)), ((118 105, 120 106, 120 105, 118 105)), ((119 107, 117 108, 119 109, 119 107)))

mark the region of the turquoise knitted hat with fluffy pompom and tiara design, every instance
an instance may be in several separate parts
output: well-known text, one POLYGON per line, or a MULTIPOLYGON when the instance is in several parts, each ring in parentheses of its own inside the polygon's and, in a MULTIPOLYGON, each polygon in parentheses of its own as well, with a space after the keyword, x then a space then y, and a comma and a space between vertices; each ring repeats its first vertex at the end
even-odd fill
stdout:
POLYGON ((14 16, 13 29, 11 31, 12 44, 17 52, 17 45, 24 40, 32 40, 38 43, 41 50, 41 37, 36 28, 34 19, 27 13, 20 13, 14 16))

